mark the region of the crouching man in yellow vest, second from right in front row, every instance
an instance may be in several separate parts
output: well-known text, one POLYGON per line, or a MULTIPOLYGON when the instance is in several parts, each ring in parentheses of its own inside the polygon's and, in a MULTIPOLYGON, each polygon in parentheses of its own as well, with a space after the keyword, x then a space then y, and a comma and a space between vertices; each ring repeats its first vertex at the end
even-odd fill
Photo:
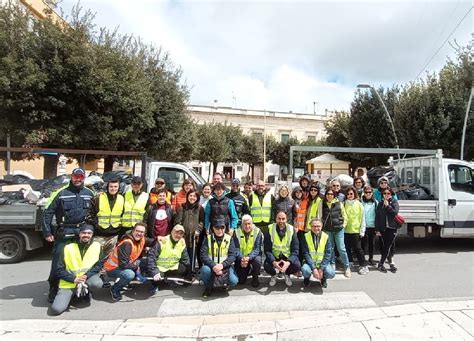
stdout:
POLYGON ((276 224, 269 226, 268 235, 263 239, 265 250, 265 271, 271 275, 269 285, 276 284, 277 273, 285 276, 285 283, 291 286, 290 275, 300 271, 301 265, 298 259, 299 242, 294 232, 295 229, 286 222, 286 213, 280 211, 276 215, 276 224))

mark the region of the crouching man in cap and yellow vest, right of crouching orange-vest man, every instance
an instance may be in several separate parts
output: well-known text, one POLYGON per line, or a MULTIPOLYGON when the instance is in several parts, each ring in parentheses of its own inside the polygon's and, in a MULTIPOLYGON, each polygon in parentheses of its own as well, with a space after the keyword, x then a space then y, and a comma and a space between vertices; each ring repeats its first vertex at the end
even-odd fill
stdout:
POLYGON ((158 292, 158 283, 166 277, 189 277, 191 261, 186 250, 182 225, 175 225, 171 234, 158 239, 148 251, 147 267, 142 271, 153 277, 150 291, 152 295, 158 292))

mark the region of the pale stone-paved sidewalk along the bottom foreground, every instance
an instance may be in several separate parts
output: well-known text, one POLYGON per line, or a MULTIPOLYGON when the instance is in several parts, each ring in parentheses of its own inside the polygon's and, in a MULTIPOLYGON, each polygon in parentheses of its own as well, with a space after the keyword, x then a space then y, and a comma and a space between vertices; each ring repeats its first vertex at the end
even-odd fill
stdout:
MULTIPOLYGON (((242 305, 245 305, 242 299, 242 305)), ((474 300, 139 320, 0 321, 2 340, 474 340, 474 300)))

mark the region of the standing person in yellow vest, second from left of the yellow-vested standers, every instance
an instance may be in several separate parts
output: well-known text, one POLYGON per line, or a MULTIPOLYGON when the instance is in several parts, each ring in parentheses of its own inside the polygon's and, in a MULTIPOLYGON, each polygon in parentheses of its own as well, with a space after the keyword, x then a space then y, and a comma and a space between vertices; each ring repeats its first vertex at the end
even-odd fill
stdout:
POLYGON ((143 191, 143 180, 139 176, 132 178, 132 189, 125 192, 124 211, 122 215, 121 236, 130 231, 136 223, 143 222, 148 210, 148 193, 143 191))

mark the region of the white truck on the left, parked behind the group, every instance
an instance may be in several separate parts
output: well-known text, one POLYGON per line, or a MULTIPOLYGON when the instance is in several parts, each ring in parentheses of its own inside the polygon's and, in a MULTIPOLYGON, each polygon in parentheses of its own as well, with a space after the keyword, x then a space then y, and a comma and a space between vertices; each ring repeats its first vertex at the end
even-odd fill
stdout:
MULTIPOLYGON (((193 180, 198 189, 205 183, 194 169, 180 163, 152 161, 147 163, 146 171, 149 187, 156 178, 165 179, 168 189, 174 192, 181 189, 187 178, 193 180)), ((0 205, 0 264, 19 262, 27 251, 43 246, 42 217, 43 207, 34 204, 0 205)))

